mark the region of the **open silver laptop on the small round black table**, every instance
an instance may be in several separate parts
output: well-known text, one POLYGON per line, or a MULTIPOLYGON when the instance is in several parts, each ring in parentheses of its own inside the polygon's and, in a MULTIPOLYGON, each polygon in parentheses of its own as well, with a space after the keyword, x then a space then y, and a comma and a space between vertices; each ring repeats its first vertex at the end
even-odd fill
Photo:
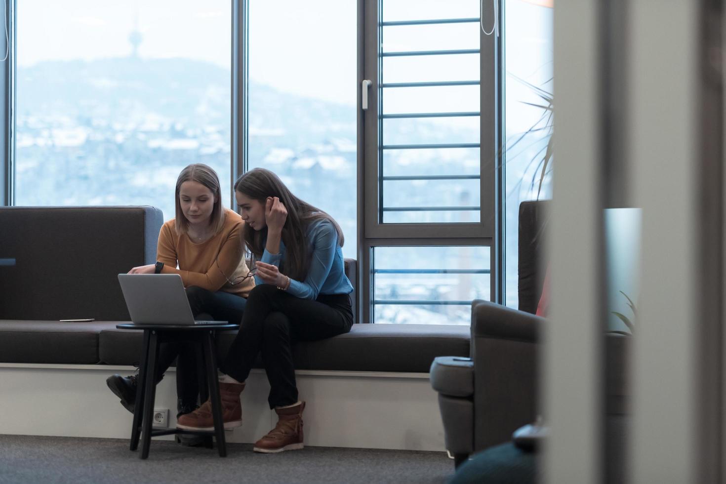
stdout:
POLYGON ((118 274, 134 324, 224 324, 195 321, 179 274, 118 274))

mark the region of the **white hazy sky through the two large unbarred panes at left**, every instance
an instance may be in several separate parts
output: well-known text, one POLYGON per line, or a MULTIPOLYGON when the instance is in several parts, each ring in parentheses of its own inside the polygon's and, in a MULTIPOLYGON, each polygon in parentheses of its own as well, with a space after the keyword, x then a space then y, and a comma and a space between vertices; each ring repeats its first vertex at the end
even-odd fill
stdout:
MULTIPOLYGON (((129 55, 187 57, 229 69, 229 0, 23 0, 17 63, 129 55)), ((356 0, 250 1, 250 77, 282 91, 354 103, 356 0), (320 82, 325 79, 325 82, 320 82)))

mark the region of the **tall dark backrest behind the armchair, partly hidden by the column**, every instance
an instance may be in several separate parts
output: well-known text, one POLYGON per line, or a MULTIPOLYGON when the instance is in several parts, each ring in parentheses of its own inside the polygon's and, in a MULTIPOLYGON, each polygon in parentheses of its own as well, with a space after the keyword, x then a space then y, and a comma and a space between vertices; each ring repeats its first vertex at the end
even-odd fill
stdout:
POLYGON ((521 202, 519 205, 519 282, 520 311, 534 314, 544 283, 544 230, 549 202, 521 202), (540 267, 540 264, 543 264, 540 267))

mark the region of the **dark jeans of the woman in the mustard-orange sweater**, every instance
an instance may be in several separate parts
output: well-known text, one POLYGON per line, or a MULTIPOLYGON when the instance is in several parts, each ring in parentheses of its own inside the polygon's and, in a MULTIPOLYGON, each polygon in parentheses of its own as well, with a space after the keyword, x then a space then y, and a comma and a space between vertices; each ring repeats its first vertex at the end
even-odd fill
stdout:
MULTIPOLYGON (((197 319, 212 319, 239 324, 245 311, 247 300, 229 292, 211 292, 201 287, 187 287, 187 299, 192 307, 192 314, 197 319)), ((181 333, 181 332, 180 332, 181 333)), ((181 334, 179 335, 181 336, 181 334)), ((201 355, 197 355, 197 344, 188 340, 162 343, 159 347, 157 381, 176 358, 176 394, 182 405, 193 406, 199 396, 199 375, 201 355)))

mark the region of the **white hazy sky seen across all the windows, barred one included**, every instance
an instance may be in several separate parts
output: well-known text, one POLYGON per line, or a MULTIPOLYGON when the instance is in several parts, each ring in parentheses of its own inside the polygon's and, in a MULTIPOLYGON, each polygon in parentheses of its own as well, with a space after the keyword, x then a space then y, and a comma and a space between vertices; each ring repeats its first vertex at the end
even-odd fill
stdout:
MULTIPOLYGON (((250 0, 250 78, 281 91, 354 104, 359 95, 356 4, 356 0, 250 0)), ((543 22, 542 17, 551 19, 552 9, 521 0, 507 0, 505 6, 507 72, 541 83, 550 76, 552 58, 551 22, 543 22)), ((383 17, 478 17, 478 9, 478 0, 386 0, 383 17)), ((135 28, 142 33, 141 57, 187 57, 227 69, 230 66, 229 0, 22 0, 18 1, 17 17, 20 68, 42 60, 129 55, 129 34, 135 28)), ((386 28, 383 34, 386 51, 471 49, 476 48, 478 25, 386 28)), ((441 64, 433 69, 425 57, 388 58, 386 65, 400 66, 396 75, 403 72, 409 81, 449 80, 426 79, 431 75, 470 80, 471 67, 478 67, 465 56, 436 57, 447 62, 446 67, 441 64)), ((393 67, 388 73, 394 73, 393 67)), ((520 87, 507 89, 518 91, 520 87)), ((466 99, 469 94, 464 91, 456 97, 466 99)))

